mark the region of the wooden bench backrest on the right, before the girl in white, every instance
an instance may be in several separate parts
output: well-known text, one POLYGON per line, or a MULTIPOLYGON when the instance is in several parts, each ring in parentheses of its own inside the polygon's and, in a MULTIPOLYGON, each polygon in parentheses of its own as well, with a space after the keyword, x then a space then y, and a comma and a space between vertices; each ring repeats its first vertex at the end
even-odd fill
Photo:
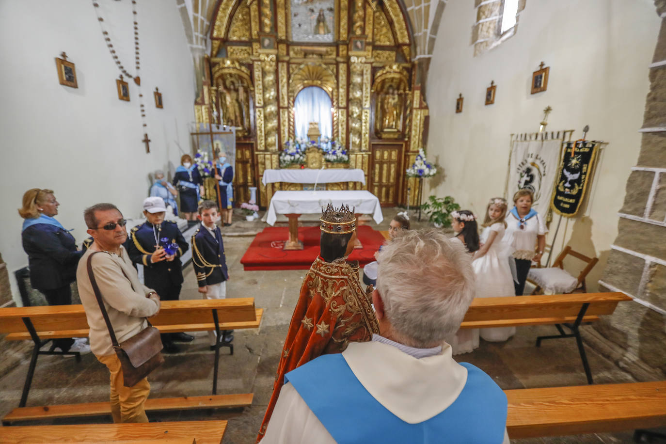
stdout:
POLYGON ((583 304, 589 304, 588 316, 608 315, 618 302, 627 300, 631 298, 617 292, 475 298, 464 322, 575 317, 583 304))

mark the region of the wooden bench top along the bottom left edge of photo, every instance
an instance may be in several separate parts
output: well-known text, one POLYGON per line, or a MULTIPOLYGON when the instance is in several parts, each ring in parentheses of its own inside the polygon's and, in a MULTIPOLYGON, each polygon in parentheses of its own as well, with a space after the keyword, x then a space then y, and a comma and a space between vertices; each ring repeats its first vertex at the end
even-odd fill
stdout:
POLYGON ((226 421, 164 423, 30 425, 3 427, 1 441, 10 443, 192 443, 220 444, 226 421))

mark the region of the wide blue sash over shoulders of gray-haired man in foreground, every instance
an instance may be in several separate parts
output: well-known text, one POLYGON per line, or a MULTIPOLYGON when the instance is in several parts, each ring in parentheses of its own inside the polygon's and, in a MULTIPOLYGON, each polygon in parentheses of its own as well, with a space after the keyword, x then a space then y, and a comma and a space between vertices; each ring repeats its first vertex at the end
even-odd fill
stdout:
POLYGON ((483 371, 461 363, 467 381, 456 401, 422 423, 402 421, 356 379, 341 354, 322 355, 284 375, 338 444, 501 444, 507 399, 483 371), (322 383, 325 381, 325 383, 322 383))

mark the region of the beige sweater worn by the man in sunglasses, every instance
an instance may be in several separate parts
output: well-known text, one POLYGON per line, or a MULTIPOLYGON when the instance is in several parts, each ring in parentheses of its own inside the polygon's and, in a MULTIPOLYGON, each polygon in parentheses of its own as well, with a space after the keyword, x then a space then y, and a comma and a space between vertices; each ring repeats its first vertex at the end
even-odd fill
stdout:
MULTIPOLYGON (((88 276, 88 256, 92 253, 92 250, 87 250, 79 261, 77 268, 79 297, 90 326, 91 350, 97 356, 113 355, 109 329, 99 310, 88 276)), ((160 301, 155 296, 146 298, 146 295, 153 290, 139 282, 137 270, 132 266, 123 246, 120 256, 107 252, 95 254, 92 265, 113 332, 118 341, 123 342, 148 326, 144 318, 159 312, 160 301), (125 270, 129 280, 123 276, 122 270, 125 270)))

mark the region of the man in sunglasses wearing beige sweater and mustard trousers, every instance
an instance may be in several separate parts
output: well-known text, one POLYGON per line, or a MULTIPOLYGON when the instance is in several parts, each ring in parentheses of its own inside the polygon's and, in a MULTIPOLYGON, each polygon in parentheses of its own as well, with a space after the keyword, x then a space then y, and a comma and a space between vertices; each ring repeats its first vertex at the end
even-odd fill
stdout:
POLYGON ((137 270, 123 247, 127 240, 127 220, 118 208, 113 204, 93 205, 83 212, 83 218, 87 232, 94 240, 79 261, 77 286, 90 326, 91 351, 111 372, 111 416, 115 423, 148 422, 144 403, 151 385, 146 378, 133 387, 123 384, 121 362, 113 350, 109 330, 88 275, 89 256, 94 252, 103 252, 93 256, 91 266, 119 342, 147 327, 145 318, 159 312, 160 298, 155 290, 139 282, 137 270))

